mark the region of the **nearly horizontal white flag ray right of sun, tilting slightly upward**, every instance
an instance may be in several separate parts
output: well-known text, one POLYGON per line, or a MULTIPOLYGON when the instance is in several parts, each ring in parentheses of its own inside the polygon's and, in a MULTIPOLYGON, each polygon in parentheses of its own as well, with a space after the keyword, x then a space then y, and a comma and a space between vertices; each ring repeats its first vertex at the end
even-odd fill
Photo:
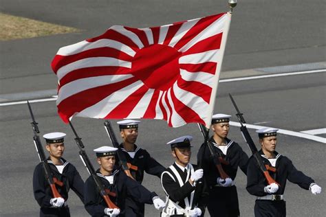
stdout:
POLYGON ((204 62, 217 62, 218 57, 219 57, 219 49, 213 49, 208 52, 181 56, 179 58, 179 63, 198 64, 204 62))

